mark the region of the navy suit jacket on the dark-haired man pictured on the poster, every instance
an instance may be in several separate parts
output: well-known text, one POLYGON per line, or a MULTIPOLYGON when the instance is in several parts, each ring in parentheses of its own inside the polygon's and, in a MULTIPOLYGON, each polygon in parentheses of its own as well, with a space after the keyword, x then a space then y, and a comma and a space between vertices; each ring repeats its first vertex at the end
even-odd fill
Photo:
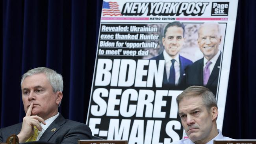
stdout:
MULTIPOLYGON (((156 57, 152 57, 151 59, 164 60, 163 52, 156 57)), ((185 57, 180 56, 180 55, 179 55, 179 60, 180 60, 180 78, 179 78, 178 85, 184 85, 185 84, 184 79, 185 79, 185 74, 186 74, 185 69, 187 66, 191 65, 193 62, 190 61, 189 59, 186 59, 185 57)), ((163 74, 163 85, 168 85, 166 69, 164 70, 164 74, 163 74)))

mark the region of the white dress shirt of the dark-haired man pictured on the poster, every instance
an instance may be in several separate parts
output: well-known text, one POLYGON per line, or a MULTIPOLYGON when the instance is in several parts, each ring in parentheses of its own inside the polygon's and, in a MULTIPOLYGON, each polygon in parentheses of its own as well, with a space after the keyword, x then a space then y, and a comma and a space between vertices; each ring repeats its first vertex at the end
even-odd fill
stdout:
MULTIPOLYGON (((167 52, 164 50, 163 51, 163 57, 165 59, 165 70, 166 70, 166 75, 167 75, 167 81, 169 80, 170 76, 170 68, 172 66, 171 60, 173 59, 167 52)), ((175 69, 175 85, 178 85, 179 83, 179 78, 180 78, 180 59, 179 59, 179 54, 174 57, 175 62, 174 62, 174 69, 175 69)))

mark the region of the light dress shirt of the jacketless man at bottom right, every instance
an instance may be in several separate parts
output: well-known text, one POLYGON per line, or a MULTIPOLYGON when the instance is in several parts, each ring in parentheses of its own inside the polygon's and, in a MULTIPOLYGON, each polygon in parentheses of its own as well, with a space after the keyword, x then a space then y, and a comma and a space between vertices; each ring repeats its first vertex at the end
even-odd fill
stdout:
MULTIPOLYGON (((234 140, 229 137, 223 137, 223 135, 219 129, 218 129, 218 132, 219 132, 219 134, 216 137, 214 137, 213 139, 211 139, 209 142, 207 142, 206 144, 213 144, 213 140, 234 140)), ((195 143, 192 142, 189 138, 186 138, 186 139, 178 140, 176 142, 172 142, 171 144, 195 144, 195 143)))

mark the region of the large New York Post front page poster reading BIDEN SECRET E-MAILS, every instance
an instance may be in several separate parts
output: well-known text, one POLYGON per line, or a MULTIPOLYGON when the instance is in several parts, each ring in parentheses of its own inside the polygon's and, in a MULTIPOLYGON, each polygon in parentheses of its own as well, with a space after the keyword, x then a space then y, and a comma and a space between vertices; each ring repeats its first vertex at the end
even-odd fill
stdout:
POLYGON ((191 85, 215 94, 222 129, 237 3, 104 0, 87 115, 93 135, 129 144, 187 138, 176 97, 191 85))

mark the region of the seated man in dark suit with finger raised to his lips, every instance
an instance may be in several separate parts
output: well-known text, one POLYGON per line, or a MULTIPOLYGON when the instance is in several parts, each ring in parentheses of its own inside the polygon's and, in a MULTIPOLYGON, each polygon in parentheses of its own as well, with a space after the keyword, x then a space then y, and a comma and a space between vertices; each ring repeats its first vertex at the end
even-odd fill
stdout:
POLYGON ((16 134, 19 142, 47 141, 56 144, 77 144, 91 139, 91 129, 80 122, 64 119, 58 113, 63 97, 62 76, 56 71, 39 67, 23 74, 22 101, 26 116, 23 122, 0 129, 0 141, 16 134))

